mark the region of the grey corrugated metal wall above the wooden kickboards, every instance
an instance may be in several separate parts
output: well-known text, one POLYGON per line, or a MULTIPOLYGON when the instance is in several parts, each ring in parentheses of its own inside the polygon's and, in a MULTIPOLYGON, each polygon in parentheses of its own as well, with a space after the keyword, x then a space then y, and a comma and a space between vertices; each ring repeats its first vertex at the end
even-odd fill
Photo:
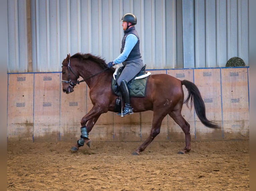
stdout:
POLYGON ((137 16, 147 69, 225 67, 249 53, 249 0, 8 0, 8 73, 57 72, 67 54, 120 53, 137 16))

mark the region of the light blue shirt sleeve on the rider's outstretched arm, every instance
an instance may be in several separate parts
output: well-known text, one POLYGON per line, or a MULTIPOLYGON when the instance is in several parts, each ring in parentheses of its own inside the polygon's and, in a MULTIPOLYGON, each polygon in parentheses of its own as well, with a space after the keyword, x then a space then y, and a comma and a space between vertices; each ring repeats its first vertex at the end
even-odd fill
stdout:
POLYGON ((127 35, 125 39, 125 45, 123 52, 113 61, 114 64, 120 64, 124 62, 132 51, 133 47, 138 42, 138 38, 134 34, 127 35))

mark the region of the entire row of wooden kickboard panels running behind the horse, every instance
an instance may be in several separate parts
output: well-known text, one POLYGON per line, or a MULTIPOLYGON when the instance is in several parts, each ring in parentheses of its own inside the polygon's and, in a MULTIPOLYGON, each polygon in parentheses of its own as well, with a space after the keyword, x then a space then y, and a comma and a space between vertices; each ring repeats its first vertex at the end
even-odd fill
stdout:
MULTIPOLYGON (((183 105, 182 115, 190 124, 191 138, 233 139, 249 137, 249 68, 150 70, 180 80, 195 81, 206 105, 206 115, 222 125, 220 131, 205 127, 183 105)), ((8 138, 35 141, 77 141, 81 119, 92 108, 89 88, 80 83, 71 94, 62 92, 61 73, 8 74, 8 138), (51 79, 51 80, 50 80, 51 79)), ((81 80, 81 79, 79 79, 81 80)), ((183 86, 184 98, 187 90, 183 86)), ((143 141, 152 127, 152 111, 125 117, 102 114, 89 137, 94 141, 143 141)), ((170 116, 163 119, 155 140, 184 140, 184 133, 170 116)))

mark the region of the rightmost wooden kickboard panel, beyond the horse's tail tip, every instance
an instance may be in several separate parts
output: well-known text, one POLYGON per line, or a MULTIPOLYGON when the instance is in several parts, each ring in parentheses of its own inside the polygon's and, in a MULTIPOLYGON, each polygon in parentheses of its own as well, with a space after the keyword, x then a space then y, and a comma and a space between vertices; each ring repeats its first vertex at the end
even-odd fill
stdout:
POLYGON ((224 137, 249 134, 248 69, 221 69, 224 137))

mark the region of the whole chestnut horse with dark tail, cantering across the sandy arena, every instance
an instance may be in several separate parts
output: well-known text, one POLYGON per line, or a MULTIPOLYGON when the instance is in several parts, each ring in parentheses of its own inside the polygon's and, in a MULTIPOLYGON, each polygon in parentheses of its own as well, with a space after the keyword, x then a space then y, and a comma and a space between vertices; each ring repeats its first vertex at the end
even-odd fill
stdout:
MULTIPOLYGON (((71 148, 78 151, 80 146, 86 143, 91 146, 91 139, 88 138, 96 121, 102 113, 115 112, 117 95, 111 89, 114 68, 108 68, 106 61, 100 56, 91 53, 76 53, 73 56, 67 55, 62 62, 62 91, 70 94, 74 87, 86 82, 90 89, 90 98, 93 104, 92 109, 81 119, 81 138, 71 148), (82 77, 82 81, 78 78, 82 77)), ((206 117, 206 108, 201 93, 197 86, 187 80, 179 80, 167 74, 151 74, 146 84, 145 97, 131 97, 130 102, 133 112, 153 111, 152 128, 147 139, 132 153, 140 155, 142 151, 159 134, 163 118, 168 114, 181 127, 185 134, 185 147, 178 151, 179 154, 188 153, 190 145, 190 125, 181 115, 183 104, 190 110, 194 108, 200 121, 209 128, 220 128, 220 126, 206 117), (184 85, 188 96, 184 100, 184 85)))

